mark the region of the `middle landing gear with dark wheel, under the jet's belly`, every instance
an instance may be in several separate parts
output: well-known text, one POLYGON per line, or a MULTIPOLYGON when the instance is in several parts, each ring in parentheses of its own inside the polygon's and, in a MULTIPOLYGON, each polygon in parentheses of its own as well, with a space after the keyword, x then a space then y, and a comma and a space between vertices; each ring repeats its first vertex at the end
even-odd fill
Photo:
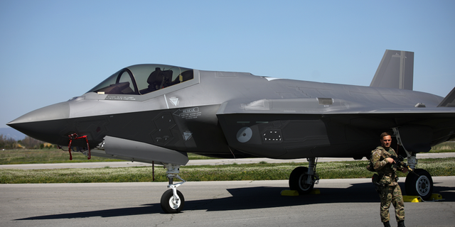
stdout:
POLYGON ((296 167, 289 176, 289 188, 299 194, 309 194, 314 184, 319 183, 319 175, 316 173, 316 157, 307 158, 308 167, 296 167))

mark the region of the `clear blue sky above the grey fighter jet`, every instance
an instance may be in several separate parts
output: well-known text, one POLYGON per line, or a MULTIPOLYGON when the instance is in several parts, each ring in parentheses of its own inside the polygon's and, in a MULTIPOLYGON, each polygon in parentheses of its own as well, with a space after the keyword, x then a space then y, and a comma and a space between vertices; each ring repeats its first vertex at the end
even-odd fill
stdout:
POLYGON ((0 1, 0 128, 122 67, 368 86, 385 49, 414 55, 414 90, 455 87, 455 1, 0 1))

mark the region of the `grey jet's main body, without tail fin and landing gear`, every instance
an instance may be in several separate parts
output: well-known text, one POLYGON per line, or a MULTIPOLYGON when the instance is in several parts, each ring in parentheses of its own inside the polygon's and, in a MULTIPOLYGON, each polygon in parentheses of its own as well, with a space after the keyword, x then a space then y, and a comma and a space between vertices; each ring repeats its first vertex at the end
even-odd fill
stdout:
POLYGON ((127 67, 90 92, 9 126, 62 146, 77 133, 87 135, 91 148, 109 137, 181 153, 285 159, 362 157, 382 131, 405 125, 431 128, 431 145, 454 136, 453 113, 432 117, 430 109, 442 100, 433 94, 165 67, 164 82, 151 79, 158 68, 127 67), (406 109, 413 115, 405 116, 406 109))

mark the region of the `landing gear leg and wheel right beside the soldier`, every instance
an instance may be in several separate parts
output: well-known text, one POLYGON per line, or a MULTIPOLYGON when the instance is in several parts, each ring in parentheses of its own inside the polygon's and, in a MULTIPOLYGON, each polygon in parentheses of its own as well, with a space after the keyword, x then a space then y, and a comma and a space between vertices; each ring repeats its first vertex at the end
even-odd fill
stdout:
POLYGON ((410 168, 414 170, 417 175, 419 175, 418 177, 412 174, 407 175, 405 182, 406 194, 420 196, 423 200, 429 199, 433 193, 432 175, 429 175, 429 172, 427 172, 427 170, 415 169, 415 165, 417 165, 416 153, 407 151, 405 146, 402 144, 398 128, 392 129, 395 133, 395 136, 397 137, 398 144, 402 145, 402 147, 405 149, 407 155, 407 165, 409 165, 410 168))

